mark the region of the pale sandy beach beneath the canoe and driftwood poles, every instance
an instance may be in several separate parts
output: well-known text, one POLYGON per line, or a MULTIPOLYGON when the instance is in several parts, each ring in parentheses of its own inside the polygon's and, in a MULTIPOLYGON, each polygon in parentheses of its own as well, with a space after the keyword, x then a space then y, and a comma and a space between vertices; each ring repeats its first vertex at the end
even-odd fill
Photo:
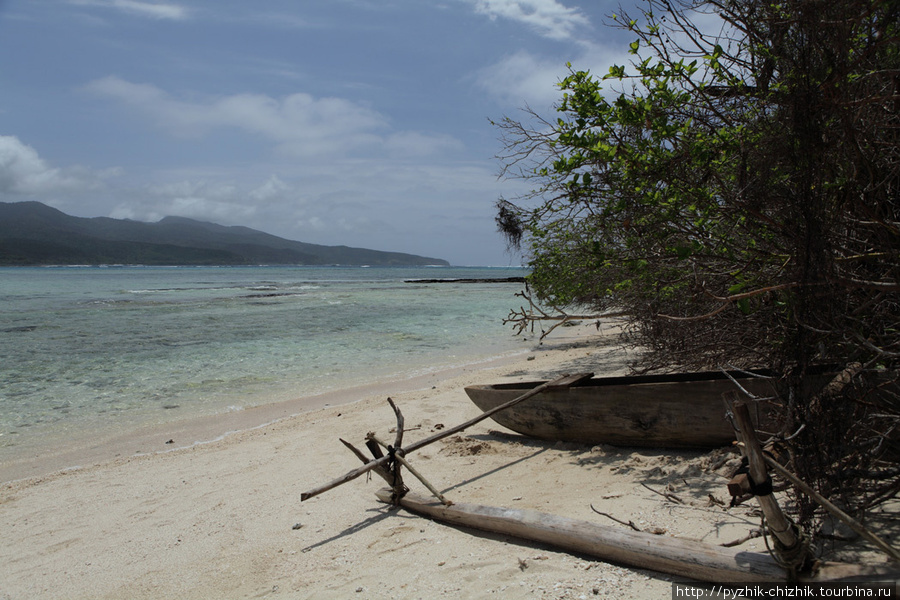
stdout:
MULTIPOLYGON (((530 347, 497 364, 2 465, 0 600, 670 598, 671 576, 393 509, 376 500, 383 486, 377 477, 300 502, 302 492, 359 465, 338 438, 362 446, 369 431, 392 437, 388 396, 405 415, 409 442, 476 416, 463 391, 468 384, 627 372, 612 335, 593 327, 530 347), (58 470, 72 464, 79 468, 58 470)), ((487 420, 410 459, 458 502, 618 526, 596 510, 644 531, 711 544, 760 525, 755 503, 723 506, 735 465, 725 450, 554 445, 487 420)), ((411 477, 407 484, 427 493, 411 477)), ((742 548, 765 545, 755 539, 742 548)))

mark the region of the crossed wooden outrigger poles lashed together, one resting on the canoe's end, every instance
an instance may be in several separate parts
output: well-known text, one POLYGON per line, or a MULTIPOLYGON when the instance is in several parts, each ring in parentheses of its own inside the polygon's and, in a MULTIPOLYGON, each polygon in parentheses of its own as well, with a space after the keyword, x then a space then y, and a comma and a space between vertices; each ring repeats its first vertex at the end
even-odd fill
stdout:
POLYGON ((389 486, 391 486, 391 490, 393 491, 391 495, 392 501, 397 504, 400 502, 400 499, 406 494, 408 488, 403 485, 403 478, 400 474, 400 467, 404 466, 409 469, 409 472, 412 473, 416 478, 421 481, 425 487, 444 505, 450 505, 452 502, 447 500, 437 489, 434 488, 422 475, 416 471, 410 464, 409 461, 406 460, 406 456, 411 452, 419 450, 420 448, 424 448, 428 444, 436 442, 438 440, 442 440, 446 437, 449 437, 455 433, 459 433, 464 429, 468 429, 472 425, 479 423, 491 415, 494 415, 501 410, 506 410, 507 408, 518 404, 524 400, 531 398, 532 396, 536 396, 540 394, 544 390, 553 387, 568 387, 573 383, 578 381, 582 381, 584 379, 588 379, 593 375, 593 373, 578 373, 575 375, 562 375, 557 377, 552 381, 548 381, 546 383, 542 383, 541 385, 535 387, 534 389, 529 390, 528 392, 518 396, 506 402, 505 404, 501 404, 500 406, 496 406, 488 411, 481 413, 479 416, 469 419, 465 423, 457 425, 456 427, 451 427, 450 429, 441 431, 440 433, 436 433, 430 437, 419 440, 418 442, 413 442, 406 448, 402 446, 403 444, 403 414, 400 412, 400 409, 397 408, 397 405, 394 404, 393 400, 388 398, 388 403, 390 403, 391 408, 394 409, 394 414, 397 416, 397 435, 394 438, 393 446, 387 445, 384 441, 378 439, 374 433, 368 433, 366 435, 366 447, 372 452, 374 459, 369 459, 365 454, 350 442, 345 440, 341 440, 341 442, 347 446, 356 456, 359 458, 363 465, 358 467, 345 475, 338 477, 337 479, 326 483, 325 485, 319 486, 315 489, 312 489, 308 492, 304 492, 300 495, 300 501, 309 500, 314 496, 318 496, 323 492, 327 492, 328 490, 334 489, 340 485, 347 483, 348 481, 352 481, 363 475, 368 473, 369 471, 374 471, 377 475, 379 475, 382 479, 384 479, 389 486), (384 454, 382 452, 382 448, 385 448, 388 453, 384 454))

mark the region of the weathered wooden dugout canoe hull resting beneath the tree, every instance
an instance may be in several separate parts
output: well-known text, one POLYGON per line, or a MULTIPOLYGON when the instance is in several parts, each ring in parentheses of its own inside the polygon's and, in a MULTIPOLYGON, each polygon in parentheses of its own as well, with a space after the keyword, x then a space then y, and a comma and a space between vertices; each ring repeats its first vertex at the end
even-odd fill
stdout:
MULTIPOLYGON (((541 383, 473 385, 465 390, 478 408, 487 411, 541 383)), ((507 429, 544 440, 715 448, 735 439, 722 394, 741 388, 759 398, 775 396, 774 379, 765 371, 585 376, 571 385, 548 388, 491 418, 507 429)), ((766 418, 770 408, 766 401, 754 403, 755 426, 771 425, 766 418)))

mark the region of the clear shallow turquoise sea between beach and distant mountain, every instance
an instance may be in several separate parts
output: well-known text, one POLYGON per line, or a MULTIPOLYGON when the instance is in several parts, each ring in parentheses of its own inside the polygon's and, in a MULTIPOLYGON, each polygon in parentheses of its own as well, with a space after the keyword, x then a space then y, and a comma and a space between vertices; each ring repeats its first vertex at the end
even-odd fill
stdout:
POLYGON ((0 462, 523 353, 521 268, 0 268, 0 462))

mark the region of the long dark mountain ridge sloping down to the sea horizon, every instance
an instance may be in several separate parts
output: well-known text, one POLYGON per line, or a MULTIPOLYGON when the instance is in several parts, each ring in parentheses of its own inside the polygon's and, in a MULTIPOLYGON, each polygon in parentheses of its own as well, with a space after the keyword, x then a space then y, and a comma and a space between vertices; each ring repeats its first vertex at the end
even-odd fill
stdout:
POLYGON ((40 202, 0 202, 0 265, 449 265, 445 260, 286 240, 183 217, 157 223, 72 217, 40 202))

